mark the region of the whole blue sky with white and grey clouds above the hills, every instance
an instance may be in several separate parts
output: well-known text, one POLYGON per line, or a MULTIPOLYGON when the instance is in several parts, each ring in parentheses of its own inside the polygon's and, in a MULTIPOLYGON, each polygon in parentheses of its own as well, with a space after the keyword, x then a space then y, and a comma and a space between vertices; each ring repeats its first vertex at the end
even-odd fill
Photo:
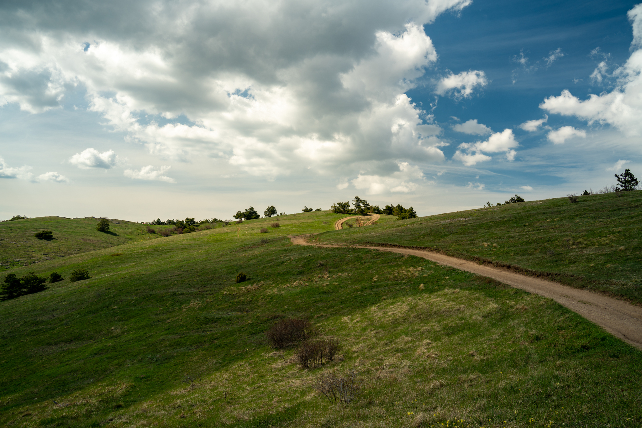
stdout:
POLYGON ((634 2, 4 1, 0 29, 0 219, 426 216, 642 175, 634 2))

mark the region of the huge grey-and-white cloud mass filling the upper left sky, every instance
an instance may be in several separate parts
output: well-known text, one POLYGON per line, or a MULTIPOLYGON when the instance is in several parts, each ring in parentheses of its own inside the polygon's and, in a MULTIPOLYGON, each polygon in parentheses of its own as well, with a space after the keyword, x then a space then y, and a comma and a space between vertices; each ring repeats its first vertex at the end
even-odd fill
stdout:
MULTIPOLYGON (((405 93, 437 60, 424 25, 471 0, 4 4, 0 105, 43 112, 80 87, 89 111, 154 155, 273 179, 443 160, 426 141, 439 126, 405 93)), ((449 81, 455 96, 487 84, 479 71, 449 81)))

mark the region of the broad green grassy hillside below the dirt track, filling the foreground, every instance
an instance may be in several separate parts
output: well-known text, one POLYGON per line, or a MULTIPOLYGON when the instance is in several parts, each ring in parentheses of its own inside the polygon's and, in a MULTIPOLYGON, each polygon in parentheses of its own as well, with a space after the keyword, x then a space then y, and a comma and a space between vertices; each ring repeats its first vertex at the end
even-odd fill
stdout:
POLYGON ((284 216, 267 234, 273 219, 246 221, 30 266, 93 278, 0 303, 0 423, 639 424, 640 352, 555 302, 469 273, 284 238, 336 218, 284 216), (240 270, 250 280, 234 284, 240 270), (322 369, 301 371, 292 350, 265 345, 277 316, 342 339, 326 369, 359 370, 361 397, 342 407, 314 395, 322 369))

